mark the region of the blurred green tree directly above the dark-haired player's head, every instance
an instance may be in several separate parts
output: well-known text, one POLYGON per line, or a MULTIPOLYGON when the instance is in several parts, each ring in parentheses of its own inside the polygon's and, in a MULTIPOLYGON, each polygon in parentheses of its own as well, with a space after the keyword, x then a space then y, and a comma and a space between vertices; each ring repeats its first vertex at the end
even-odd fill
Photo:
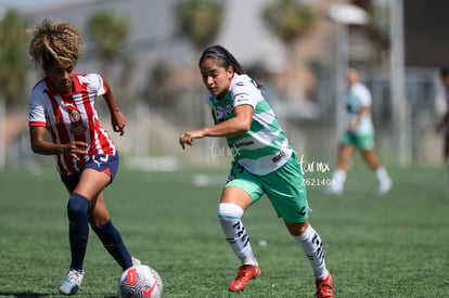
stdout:
POLYGON ((216 0, 187 0, 176 9, 178 28, 195 47, 202 50, 218 34, 223 15, 222 3, 216 0))

